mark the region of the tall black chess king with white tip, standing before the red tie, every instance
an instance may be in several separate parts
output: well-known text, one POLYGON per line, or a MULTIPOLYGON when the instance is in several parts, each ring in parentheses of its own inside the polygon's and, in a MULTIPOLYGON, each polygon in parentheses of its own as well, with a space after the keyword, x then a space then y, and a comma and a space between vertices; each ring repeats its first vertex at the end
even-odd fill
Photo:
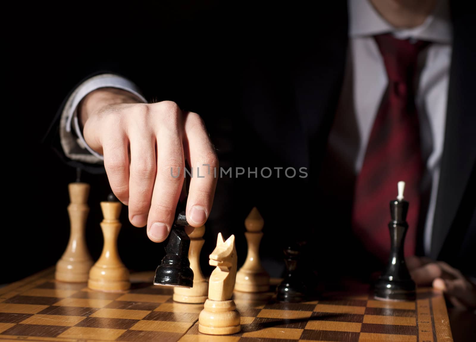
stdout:
POLYGON ((405 182, 398 182, 397 199, 390 201, 390 255, 387 269, 375 283, 374 297, 379 300, 415 300, 415 282, 410 277, 403 252, 408 230, 408 202, 403 199, 404 188, 405 182))

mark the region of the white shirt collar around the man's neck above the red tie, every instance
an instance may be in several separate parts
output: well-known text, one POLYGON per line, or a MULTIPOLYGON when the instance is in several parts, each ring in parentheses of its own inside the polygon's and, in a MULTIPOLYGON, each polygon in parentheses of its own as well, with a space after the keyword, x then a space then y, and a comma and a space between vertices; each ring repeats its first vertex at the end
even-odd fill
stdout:
POLYGON ((399 39, 413 38, 443 44, 450 44, 453 39, 448 0, 437 0, 435 10, 425 22, 411 29, 397 29, 390 25, 369 0, 348 0, 347 3, 351 38, 393 33, 399 39))

